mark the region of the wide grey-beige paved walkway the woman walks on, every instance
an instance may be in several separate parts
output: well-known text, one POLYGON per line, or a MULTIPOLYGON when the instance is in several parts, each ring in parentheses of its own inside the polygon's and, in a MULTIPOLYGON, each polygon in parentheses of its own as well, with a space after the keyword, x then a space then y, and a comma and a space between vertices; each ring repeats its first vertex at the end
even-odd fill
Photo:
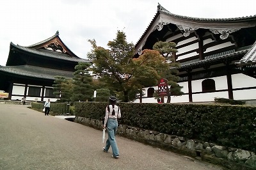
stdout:
POLYGON ((124 137, 116 140, 118 159, 102 151, 100 130, 26 105, 0 104, 0 169, 221 169, 124 137))

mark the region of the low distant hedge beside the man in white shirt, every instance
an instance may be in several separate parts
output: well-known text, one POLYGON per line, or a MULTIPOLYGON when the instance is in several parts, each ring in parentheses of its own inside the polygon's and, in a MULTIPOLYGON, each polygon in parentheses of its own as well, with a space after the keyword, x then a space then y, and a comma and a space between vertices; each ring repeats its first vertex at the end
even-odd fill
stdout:
MULTIPOLYGON (((44 103, 40 102, 31 102, 31 108, 43 112, 44 103)), ((51 109, 50 114, 52 116, 62 115, 67 113, 67 103, 52 103, 51 102, 51 109)), ((74 108, 70 106, 70 115, 74 115, 74 108)))

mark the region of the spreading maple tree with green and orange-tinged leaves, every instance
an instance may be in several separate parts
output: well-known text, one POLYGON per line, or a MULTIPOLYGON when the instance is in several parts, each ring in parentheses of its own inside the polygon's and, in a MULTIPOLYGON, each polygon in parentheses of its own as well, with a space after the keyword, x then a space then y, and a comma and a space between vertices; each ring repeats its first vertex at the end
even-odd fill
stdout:
POLYGON ((132 59, 134 45, 127 43, 122 31, 108 42, 109 49, 98 47, 95 40, 89 42, 92 51, 88 58, 93 61, 93 74, 123 102, 134 100, 141 88, 156 86, 163 72, 168 70, 168 64, 156 50, 144 50, 138 59, 132 59))

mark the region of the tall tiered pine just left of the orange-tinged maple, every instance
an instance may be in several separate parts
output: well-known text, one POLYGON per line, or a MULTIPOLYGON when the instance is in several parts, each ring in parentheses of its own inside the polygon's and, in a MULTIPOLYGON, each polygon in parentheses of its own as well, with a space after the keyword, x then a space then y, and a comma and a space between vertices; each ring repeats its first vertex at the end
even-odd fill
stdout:
POLYGON ((90 63, 79 62, 76 65, 73 78, 72 101, 92 101, 93 86, 92 75, 88 72, 90 63))

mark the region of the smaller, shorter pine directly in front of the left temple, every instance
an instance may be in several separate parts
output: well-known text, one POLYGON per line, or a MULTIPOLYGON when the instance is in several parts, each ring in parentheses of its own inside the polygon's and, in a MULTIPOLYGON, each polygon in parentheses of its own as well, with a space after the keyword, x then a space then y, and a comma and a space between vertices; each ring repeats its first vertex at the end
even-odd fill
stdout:
POLYGON ((54 87, 54 95, 60 97, 59 102, 70 102, 71 91, 72 89, 72 79, 67 79, 66 77, 55 77, 56 80, 52 86, 54 87))

